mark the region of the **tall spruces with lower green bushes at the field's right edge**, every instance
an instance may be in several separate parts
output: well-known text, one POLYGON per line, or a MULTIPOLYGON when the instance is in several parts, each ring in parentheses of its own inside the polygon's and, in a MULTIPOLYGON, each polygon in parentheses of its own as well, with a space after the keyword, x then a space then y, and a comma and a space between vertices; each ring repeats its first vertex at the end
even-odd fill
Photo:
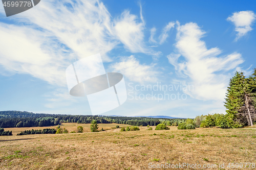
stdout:
POLYGON ((226 114, 197 116, 195 127, 242 128, 256 124, 256 69, 248 78, 237 71, 229 81, 224 102, 226 114))

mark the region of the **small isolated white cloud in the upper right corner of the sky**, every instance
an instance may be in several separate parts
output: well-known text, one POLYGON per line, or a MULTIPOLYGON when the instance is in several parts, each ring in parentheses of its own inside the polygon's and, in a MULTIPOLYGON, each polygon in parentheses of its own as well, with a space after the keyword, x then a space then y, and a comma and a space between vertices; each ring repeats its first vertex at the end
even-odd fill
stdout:
POLYGON ((255 20, 256 15, 252 11, 234 12, 227 20, 233 22, 235 31, 238 32, 236 41, 244 36, 247 32, 251 31, 251 25, 255 20))

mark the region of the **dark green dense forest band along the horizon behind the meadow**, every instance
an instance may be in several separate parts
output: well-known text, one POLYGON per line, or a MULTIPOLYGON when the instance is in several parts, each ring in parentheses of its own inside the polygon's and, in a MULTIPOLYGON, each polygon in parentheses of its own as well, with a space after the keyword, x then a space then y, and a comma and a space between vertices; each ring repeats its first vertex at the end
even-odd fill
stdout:
POLYGON ((157 126, 161 122, 168 125, 178 126, 184 119, 167 119, 151 117, 122 117, 122 116, 99 116, 99 115, 62 115, 62 114, 35 114, 26 111, 0 111, 0 128, 14 127, 44 127, 54 126, 60 123, 91 124, 92 120, 98 124, 126 124, 132 126, 157 126))

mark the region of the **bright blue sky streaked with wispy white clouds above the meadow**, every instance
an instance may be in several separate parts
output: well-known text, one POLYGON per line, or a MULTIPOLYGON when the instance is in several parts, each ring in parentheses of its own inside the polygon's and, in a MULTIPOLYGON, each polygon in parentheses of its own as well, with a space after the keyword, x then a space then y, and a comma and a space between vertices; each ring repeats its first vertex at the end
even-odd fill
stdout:
POLYGON ((86 97, 69 94, 65 70, 100 53, 128 94, 103 115, 225 113, 234 71, 248 76, 256 67, 255 9, 254 1, 65 0, 5 17, 1 5, 0 110, 91 114, 86 97), (174 90, 141 89, 159 84, 174 90), (166 93, 176 98, 162 99, 166 93), (158 98, 143 99, 152 94, 158 98))

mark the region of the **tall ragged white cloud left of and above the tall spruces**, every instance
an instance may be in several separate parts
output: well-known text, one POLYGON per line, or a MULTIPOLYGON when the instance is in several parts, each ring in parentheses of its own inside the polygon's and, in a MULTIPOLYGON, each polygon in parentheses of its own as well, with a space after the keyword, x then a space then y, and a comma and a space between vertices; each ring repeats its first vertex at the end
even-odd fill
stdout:
POLYGON ((175 47, 179 54, 172 53, 167 58, 169 63, 175 66, 176 73, 180 77, 189 77, 190 84, 194 85, 194 91, 184 92, 200 100, 223 101, 229 80, 224 72, 244 62, 241 54, 219 56, 219 48, 207 49, 205 42, 201 40, 205 32, 196 23, 179 26, 177 22, 177 25, 175 47), (180 56, 183 56, 185 61, 180 62, 180 56))

